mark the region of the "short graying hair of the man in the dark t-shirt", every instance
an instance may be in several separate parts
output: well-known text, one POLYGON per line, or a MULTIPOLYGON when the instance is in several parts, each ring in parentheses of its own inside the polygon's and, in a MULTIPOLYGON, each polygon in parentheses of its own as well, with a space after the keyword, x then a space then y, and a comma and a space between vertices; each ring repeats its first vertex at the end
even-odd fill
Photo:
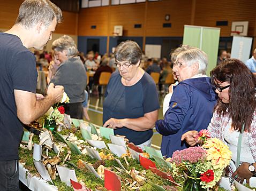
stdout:
POLYGON ((57 23, 62 21, 62 11, 49 0, 25 0, 19 9, 15 24, 25 26, 27 29, 43 22, 48 27, 56 18, 57 23))

